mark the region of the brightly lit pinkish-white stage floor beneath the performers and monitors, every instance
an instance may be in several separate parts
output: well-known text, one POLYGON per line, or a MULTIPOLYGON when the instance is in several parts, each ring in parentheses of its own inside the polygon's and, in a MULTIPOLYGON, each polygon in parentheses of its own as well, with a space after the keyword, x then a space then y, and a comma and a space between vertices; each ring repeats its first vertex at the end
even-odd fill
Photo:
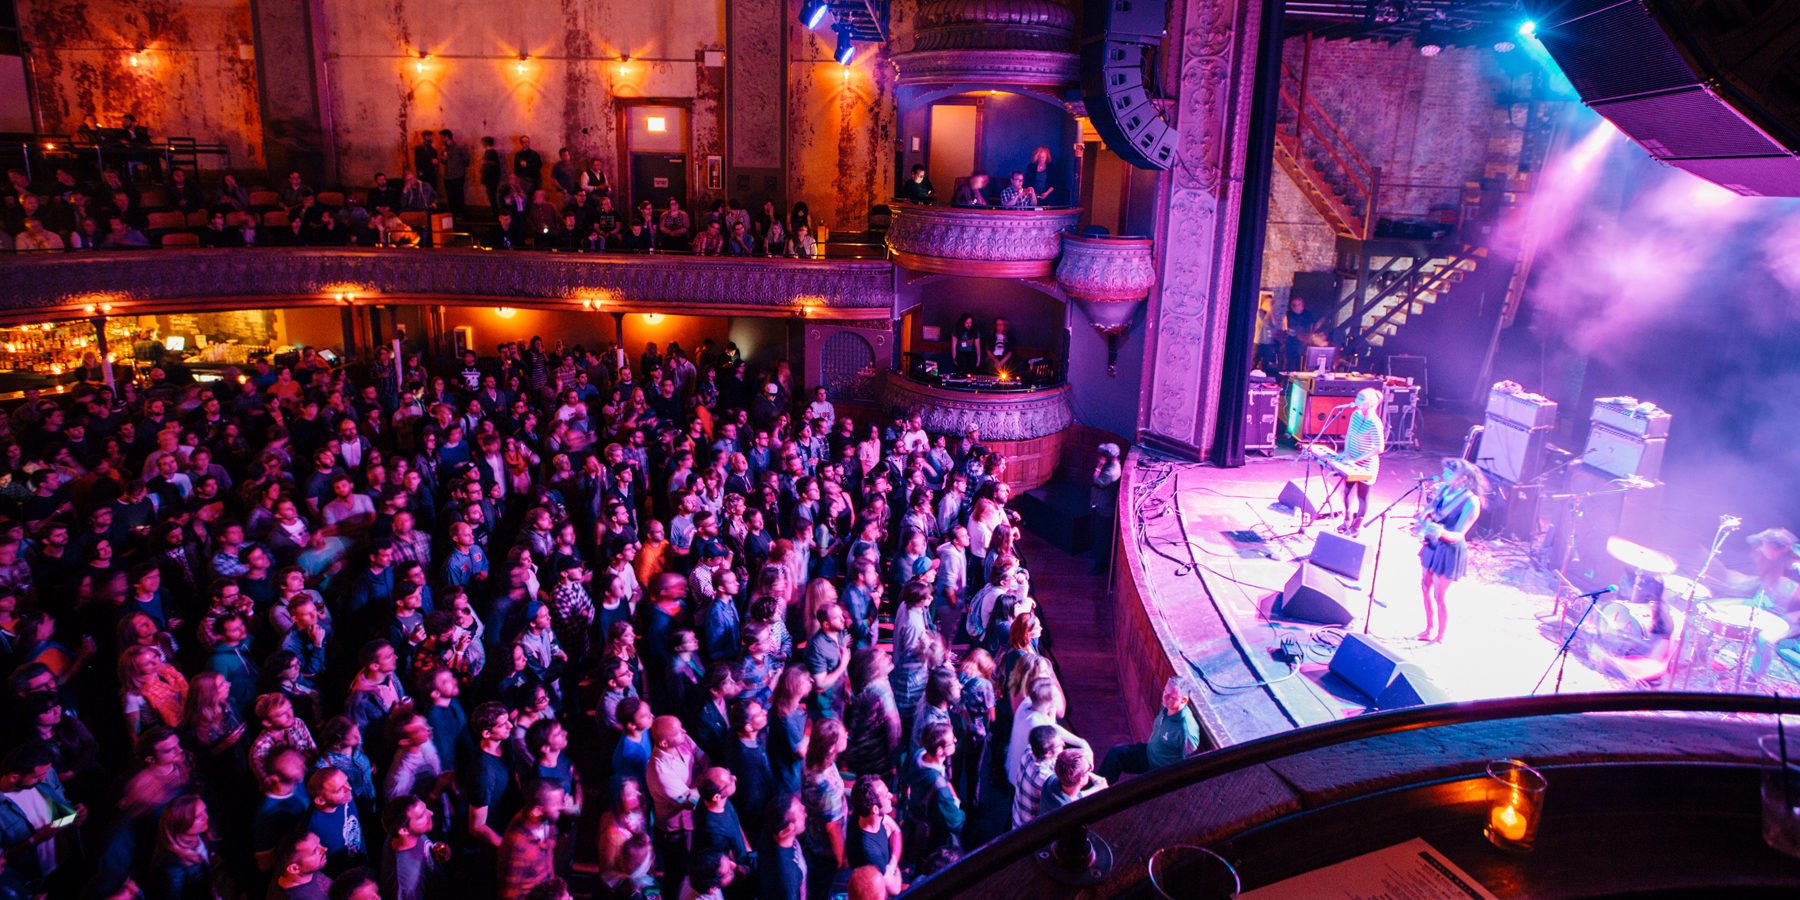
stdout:
MULTIPOLYGON (((1555 691, 1557 650, 1570 634, 1557 605, 1557 572, 1534 560, 1526 540, 1480 536, 1471 540, 1469 574, 1449 592, 1449 626, 1442 643, 1424 643, 1418 542, 1409 526, 1417 491, 1400 497, 1418 477, 1436 475, 1442 457, 1427 452, 1382 455, 1381 477, 1370 497, 1363 576, 1336 578, 1330 594, 1354 614, 1348 626, 1325 626, 1271 614, 1289 576, 1301 565, 1321 531, 1341 518, 1319 518, 1301 529, 1301 518, 1276 504, 1283 484, 1303 482, 1307 464, 1283 450, 1251 457, 1242 468, 1213 468, 1134 452, 1120 495, 1120 661, 1139 668, 1130 682, 1148 684, 1156 671, 1179 671, 1202 682, 1195 704, 1215 745, 1240 743, 1291 727, 1361 715, 1372 697, 1328 673, 1346 634, 1370 635, 1427 680, 1426 702, 1460 702, 1555 691), (1400 500, 1395 504, 1395 500, 1400 500), (1388 509, 1386 522, 1373 520, 1388 509), (1379 547, 1379 560, 1377 560, 1379 547), (1130 581, 1130 583, 1127 583, 1130 581), (1300 644, 1303 661, 1282 659, 1283 637, 1300 644), (1166 657, 1154 659, 1156 655, 1166 657), (1546 675, 1548 671, 1548 675, 1546 675)), ((1319 468, 1312 466, 1312 497, 1323 500, 1319 468)), ((1339 509, 1341 493, 1330 509, 1339 509)), ((1692 574, 1692 572, 1687 572, 1692 574)), ((1564 598, 1573 598, 1566 590, 1564 598)), ((1618 599, 1618 594, 1602 598, 1618 599)), ((1575 614, 1586 601, 1568 603, 1575 614)), ((1620 605, 1647 621, 1647 605, 1620 605), (1636 607, 1636 608, 1634 608, 1636 607)), ((1609 666, 1598 617, 1582 625, 1562 666, 1562 693, 1618 691, 1627 680, 1609 666), (1591 650, 1593 644, 1593 650, 1591 650)), ((1692 632, 1692 630, 1690 630, 1692 632)), ((1613 644, 1616 646, 1616 644, 1613 644)), ((1733 668, 1717 671, 1712 657, 1690 664, 1688 689, 1732 689, 1733 668)), ((1784 664, 1773 666, 1782 693, 1795 684, 1784 664)), ((1755 689, 1744 682, 1744 689, 1755 689)), ((1771 682, 1764 680, 1764 689, 1771 682)), ((1152 693, 1154 702, 1154 693, 1152 693)), ((1132 707, 1138 704, 1132 702, 1132 707)))

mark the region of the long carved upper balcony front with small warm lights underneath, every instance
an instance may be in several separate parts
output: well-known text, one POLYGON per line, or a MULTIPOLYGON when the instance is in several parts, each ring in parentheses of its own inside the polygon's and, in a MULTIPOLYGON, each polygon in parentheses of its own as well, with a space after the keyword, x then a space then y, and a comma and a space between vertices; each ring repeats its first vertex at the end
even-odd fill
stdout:
POLYGON ((598 301, 607 308, 893 308, 893 265, 851 259, 724 259, 490 250, 135 250, 0 257, 0 319, 88 302, 257 299, 297 304, 335 293, 443 301, 598 301))

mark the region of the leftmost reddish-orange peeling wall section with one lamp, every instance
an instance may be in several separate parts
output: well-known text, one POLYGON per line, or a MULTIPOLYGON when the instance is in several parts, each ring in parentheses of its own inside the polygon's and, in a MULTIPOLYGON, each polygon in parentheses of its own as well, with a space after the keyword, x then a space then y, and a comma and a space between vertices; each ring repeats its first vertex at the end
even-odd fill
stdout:
POLYGON ((252 45, 248 0, 18 0, 18 14, 47 131, 131 113, 153 139, 221 142, 234 169, 263 167, 256 61, 239 54, 252 45))

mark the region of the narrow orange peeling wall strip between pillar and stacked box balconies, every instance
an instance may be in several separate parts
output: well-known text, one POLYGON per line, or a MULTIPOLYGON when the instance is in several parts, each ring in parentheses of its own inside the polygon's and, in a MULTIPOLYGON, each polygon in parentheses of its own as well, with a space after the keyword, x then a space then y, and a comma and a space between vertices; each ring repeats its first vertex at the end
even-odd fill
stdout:
POLYGON ((835 36, 799 22, 788 0, 788 203, 805 202, 812 221, 862 230, 869 207, 886 203, 895 185, 893 52, 911 45, 916 0, 889 7, 895 36, 886 49, 859 45, 850 67, 832 56, 835 36))

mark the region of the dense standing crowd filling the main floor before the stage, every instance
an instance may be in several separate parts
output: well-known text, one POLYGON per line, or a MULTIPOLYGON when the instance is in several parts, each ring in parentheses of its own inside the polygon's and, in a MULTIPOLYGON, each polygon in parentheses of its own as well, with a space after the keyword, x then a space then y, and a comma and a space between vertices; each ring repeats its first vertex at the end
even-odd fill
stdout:
POLYGON ((729 344, 432 365, 0 416, 0 896, 884 898, 1199 742, 1062 724, 976 428, 729 344))

